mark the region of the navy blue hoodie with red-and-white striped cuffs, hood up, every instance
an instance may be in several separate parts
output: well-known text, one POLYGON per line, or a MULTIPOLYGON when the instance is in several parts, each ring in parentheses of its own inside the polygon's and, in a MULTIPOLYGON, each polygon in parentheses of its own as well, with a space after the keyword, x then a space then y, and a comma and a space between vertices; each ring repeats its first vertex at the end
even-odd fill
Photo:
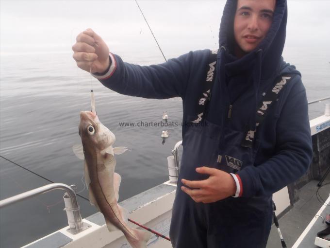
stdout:
MULTIPOLYGON (((274 87, 277 76, 296 74, 258 127, 253 164, 236 172, 242 183, 242 197, 269 196, 301 177, 310 165, 313 152, 306 92, 300 73, 281 57, 287 20, 286 0, 277 0, 273 22, 264 40, 239 59, 232 53, 235 10, 236 1, 227 1, 219 32, 217 74, 206 117, 208 122, 219 127, 215 135, 221 137, 222 146, 231 142, 224 130, 244 132, 247 126, 254 130, 256 106, 263 93, 274 87), (230 120, 227 118, 229 105, 233 106, 230 120)), ((124 63, 113 54, 111 58, 114 71, 110 77, 100 79, 104 86, 131 96, 181 97, 183 123, 196 119, 209 50, 190 52, 151 66, 124 63)), ((193 145, 185 142, 189 128, 182 127, 184 149, 193 145)))

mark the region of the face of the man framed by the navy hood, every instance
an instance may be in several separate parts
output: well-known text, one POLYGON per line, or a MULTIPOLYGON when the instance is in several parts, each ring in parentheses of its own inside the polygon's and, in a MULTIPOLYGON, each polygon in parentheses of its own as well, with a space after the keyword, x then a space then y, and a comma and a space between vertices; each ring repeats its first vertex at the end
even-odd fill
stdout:
POLYGON ((238 0, 234 18, 236 55, 254 50, 266 36, 273 19, 276 0, 238 0))

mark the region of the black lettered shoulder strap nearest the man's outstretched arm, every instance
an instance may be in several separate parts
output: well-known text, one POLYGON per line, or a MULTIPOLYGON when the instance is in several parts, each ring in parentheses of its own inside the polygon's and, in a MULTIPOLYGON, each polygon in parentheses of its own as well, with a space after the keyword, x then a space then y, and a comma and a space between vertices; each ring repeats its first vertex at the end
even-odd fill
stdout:
POLYGON ((204 82, 204 90, 198 99, 198 104, 196 107, 197 116, 193 123, 200 123, 204 118, 204 112, 207 106, 207 103, 211 99, 211 90, 214 83, 215 78, 215 68, 216 68, 216 55, 218 54, 218 50, 211 51, 208 59, 208 63, 206 66, 205 72, 205 82, 204 82))

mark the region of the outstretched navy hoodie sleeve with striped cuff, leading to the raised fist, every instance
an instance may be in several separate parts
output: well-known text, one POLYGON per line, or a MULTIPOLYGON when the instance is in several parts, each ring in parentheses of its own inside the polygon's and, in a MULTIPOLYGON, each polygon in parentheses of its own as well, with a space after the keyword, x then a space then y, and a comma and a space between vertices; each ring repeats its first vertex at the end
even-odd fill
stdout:
POLYGON ((163 64, 139 66, 125 63, 118 55, 110 54, 110 70, 103 79, 97 78, 105 87, 125 95, 155 99, 183 97, 191 57, 192 52, 163 64))

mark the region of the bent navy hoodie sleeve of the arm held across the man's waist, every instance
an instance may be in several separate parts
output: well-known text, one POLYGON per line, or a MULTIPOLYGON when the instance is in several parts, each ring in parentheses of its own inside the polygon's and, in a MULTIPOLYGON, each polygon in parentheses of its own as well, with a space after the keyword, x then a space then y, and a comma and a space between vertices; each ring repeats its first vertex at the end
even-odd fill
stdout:
POLYGON ((247 166, 237 172, 242 181, 243 197, 271 195, 279 191, 301 177, 312 161, 306 90, 301 78, 296 78, 299 82, 286 98, 276 125, 275 155, 259 166, 247 166))

